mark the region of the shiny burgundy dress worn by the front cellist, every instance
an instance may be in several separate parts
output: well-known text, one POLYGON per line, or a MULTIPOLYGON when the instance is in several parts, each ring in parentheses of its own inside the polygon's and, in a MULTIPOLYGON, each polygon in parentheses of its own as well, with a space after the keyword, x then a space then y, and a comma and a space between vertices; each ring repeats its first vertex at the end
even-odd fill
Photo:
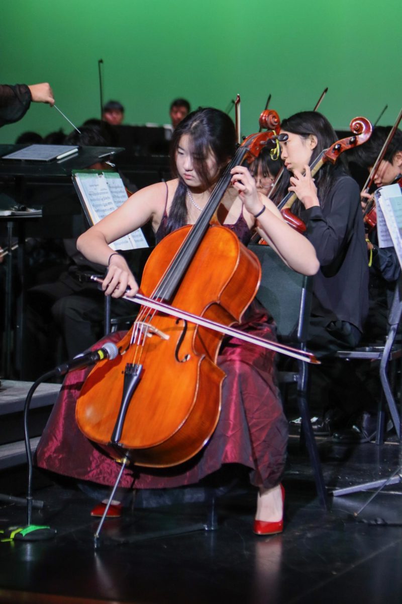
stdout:
MULTIPOLYGON (((157 236, 165 225, 161 222, 157 236)), ((233 230, 243 243, 250 231, 242 214, 233 230)), ((162 237, 159 237, 162 238, 162 237)), ((251 304, 240 329, 275 339, 275 326, 265 309, 251 304)), ((117 342, 124 335, 114 333, 99 341, 117 342)), ((120 486, 133 489, 177 487, 197 483, 222 464, 239 463, 250 468, 255 486, 276 486, 283 474, 287 447, 284 417, 275 379, 275 353, 236 338, 225 338, 218 365, 225 371, 222 410, 209 443, 191 460, 171 468, 125 469, 120 486)), ((78 429, 75 403, 90 368, 66 376, 57 402, 36 451, 37 466, 58 474, 99 484, 113 485, 119 466, 78 429)), ((107 393, 105 393, 107 396, 107 393)))

